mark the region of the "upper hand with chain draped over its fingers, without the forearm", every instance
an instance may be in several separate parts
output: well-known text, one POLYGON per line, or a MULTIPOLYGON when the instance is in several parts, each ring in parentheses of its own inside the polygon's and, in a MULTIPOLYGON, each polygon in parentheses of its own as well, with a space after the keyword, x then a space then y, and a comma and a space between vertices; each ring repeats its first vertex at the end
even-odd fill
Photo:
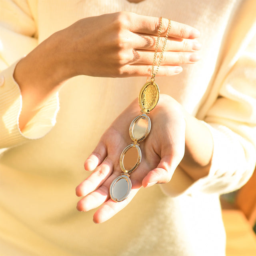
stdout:
MULTIPOLYGON (((163 36, 167 27, 168 20, 163 19, 163 36)), ((68 65, 67 72, 72 72, 70 76, 150 76, 158 28, 159 18, 130 12, 84 18, 60 33, 60 58, 68 65)), ((195 50, 200 50, 200 44, 192 40, 199 34, 172 21, 158 76, 178 74, 179 65, 199 60, 195 50)))

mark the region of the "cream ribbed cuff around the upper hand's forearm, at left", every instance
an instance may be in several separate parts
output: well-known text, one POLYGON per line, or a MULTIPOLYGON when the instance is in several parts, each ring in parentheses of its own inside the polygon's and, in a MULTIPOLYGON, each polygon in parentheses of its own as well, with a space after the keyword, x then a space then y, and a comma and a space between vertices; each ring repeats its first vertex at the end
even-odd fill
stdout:
POLYGON ((54 94, 28 122, 23 132, 20 131, 18 120, 22 109, 22 96, 13 78, 17 63, 18 61, 0 74, 4 80, 0 86, 0 148, 9 148, 26 140, 42 138, 54 126, 59 110, 58 94, 54 94))

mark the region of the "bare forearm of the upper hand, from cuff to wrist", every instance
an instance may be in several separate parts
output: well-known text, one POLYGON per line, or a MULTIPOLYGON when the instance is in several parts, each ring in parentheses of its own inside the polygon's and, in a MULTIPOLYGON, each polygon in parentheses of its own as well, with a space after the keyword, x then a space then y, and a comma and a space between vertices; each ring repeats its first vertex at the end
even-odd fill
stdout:
POLYGON ((20 130, 68 78, 60 52, 60 35, 55 33, 18 62, 14 79, 22 95, 20 130))

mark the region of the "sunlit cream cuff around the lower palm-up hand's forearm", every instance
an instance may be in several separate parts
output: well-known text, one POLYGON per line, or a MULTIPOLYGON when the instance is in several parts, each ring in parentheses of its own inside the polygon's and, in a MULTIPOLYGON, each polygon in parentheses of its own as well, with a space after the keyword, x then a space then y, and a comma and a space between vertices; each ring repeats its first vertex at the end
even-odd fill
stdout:
POLYGON ((237 190, 246 183, 254 170, 245 151, 245 148, 252 146, 246 142, 241 143, 242 138, 226 126, 204 124, 208 126, 214 141, 211 168, 206 177, 194 182, 185 193, 224 194, 237 190))

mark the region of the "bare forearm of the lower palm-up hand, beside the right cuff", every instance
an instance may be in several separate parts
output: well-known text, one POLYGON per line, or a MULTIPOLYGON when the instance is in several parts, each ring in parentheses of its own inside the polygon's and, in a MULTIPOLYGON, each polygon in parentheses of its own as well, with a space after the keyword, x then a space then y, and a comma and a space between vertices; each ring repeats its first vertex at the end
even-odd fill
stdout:
POLYGON ((212 134, 208 127, 195 117, 185 113, 185 154, 180 167, 193 180, 209 173, 213 153, 212 134))

